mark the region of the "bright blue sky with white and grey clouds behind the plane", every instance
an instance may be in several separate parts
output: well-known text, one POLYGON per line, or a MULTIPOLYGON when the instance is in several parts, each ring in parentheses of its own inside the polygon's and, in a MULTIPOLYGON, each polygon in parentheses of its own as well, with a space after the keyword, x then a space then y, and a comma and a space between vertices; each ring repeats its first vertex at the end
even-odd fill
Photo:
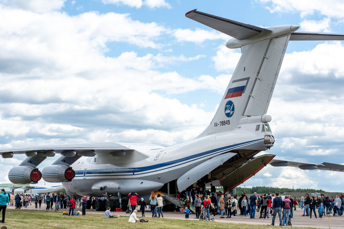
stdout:
MULTIPOLYGON (((186 18, 193 9, 344 33, 344 2, 334 0, 0 0, 0 148, 196 137, 241 52, 225 47, 228 35, 186 18)), ((263 153, 344 164, 343 53, 340 41, 289 42, 267 112, 276 142, 263 153)), ((0 157, 0 181, 24 159, 0 157)), ((241 186, 342 192, 343 178, 268 165, 241 186)))

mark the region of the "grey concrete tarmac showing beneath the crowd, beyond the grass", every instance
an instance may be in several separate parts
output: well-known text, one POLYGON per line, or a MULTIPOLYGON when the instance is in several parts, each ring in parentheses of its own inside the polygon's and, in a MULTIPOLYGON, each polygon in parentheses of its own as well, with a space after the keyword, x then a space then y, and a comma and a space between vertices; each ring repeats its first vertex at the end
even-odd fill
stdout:
MULTIPOLYGON (((148 206, 147 206, 148 207, 148 206)), ((7 208, 9 209, 14 209, 14 206, 9 206, 7 205, 7 208)), ((31 209, 31 210, 41 210, 45 211, 46 209, 46 204, 42 204, 41 208, 35 208, 35 205, 32 203, 32 205, 29 204, 28 208, 21 208, 21 210, 26 210, 26 209, 31 209)), ((62 211, 69 211, 69 209, 59 209, 58 211, 55 210, 49 210, 49 211, 55 211, 56 214, 62 214, 62 211)), ((75 208, 74 211, 81 211, 80 208, 75 208)), ((318 216, 318 210, 316 211, 316 215, 318 216)), ((127 216, 129 217, 129 214, 126 214, 125 212, 111 212, 115 213, 115 216, 127 216)), ((86 214, 99 214, 102 215, 101 217, 104 217, 104 211, 96 211, 94 209, 86 209, 86 214)), ((323 218, 315 218, 312 215, 312 218, 310 219, 309 216, 301 216, 303 215, 303 210, 300 208, 297 208, 297 210, 293 211, 293 218, 291 219, 292 227, 307 227, 307 228, 329 228, 329 217, 328 216, 323 216, 323 218)), ((139 219, 141 219, 141 211, 138 209, 137 216, 139 219)), ((152 216, 152 213, 150 212, 150 209, 147 208, 145 211, 145 216, 144 219, 149 219, 152 216)), ((250 219, 249 216, 237 216, 235 218, 224 218, 220 219, 219 215, 216 216, 211 216, 211 218, 214 218, 216 222, 230 222, 230 223, 244 223, 244 224, 252 224, 252 225, 271 225, 272 222, 272 216, 270 218, 262 218, 259 219, 260 213, 256 211, 255 213, 255 218, 250 219)), ((199 219, 194 219, 195 214, 190 214, 189 219, 185 219, 184 213, 183 212, 164 212, 164 218, 166 219, 182 219, 182 220, 199 220, 199 219)), ((344 228, 344 215, 343 216, 332 216, 330 217, 330 223, 331 223, 331 229, 343 229, 344 228)), ((279 225, 279 217, 278 215, 276 216, 275 220, 275 227, 279 225)))

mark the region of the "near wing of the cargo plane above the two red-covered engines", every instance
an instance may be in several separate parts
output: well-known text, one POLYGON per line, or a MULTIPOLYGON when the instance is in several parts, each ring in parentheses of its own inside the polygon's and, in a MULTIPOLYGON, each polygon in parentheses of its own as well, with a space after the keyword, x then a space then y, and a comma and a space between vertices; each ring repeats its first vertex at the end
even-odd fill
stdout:
POLYGON ((34 156, 38 153, 43 153, 43 156, 49 156, 49 154, 60 153, 77 154, 79 156, 94 156, 95 154, 110 154, 121 151, 129 151, 126 146, 120 145, 114 142, 102 142, 102 143, 84 143, 84 144, 69 144, 69 145, 46 145, 46 146, 32 146, 22 148, 8 148, 0 149, 2 157, 13 157, 13 154, 26 154, 27 156, 34 156), (75 152, 73 152, 75 151, 75 152), (48 155, 47 155, 48 154, 48 155))

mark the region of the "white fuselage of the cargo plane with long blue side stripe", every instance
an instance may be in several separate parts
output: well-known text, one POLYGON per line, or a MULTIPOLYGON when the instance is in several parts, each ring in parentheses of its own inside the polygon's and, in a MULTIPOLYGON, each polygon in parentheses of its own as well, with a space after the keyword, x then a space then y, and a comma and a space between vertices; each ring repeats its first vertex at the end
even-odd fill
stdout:
MULTIPOLYGON (((72 164, 76 172, 75 178, 72 182, 63 183, 63 186, 79 196, 102 197, 105 196, 105 192, 91 190, 93 184, 102 180, 142 179, 165 184, 225 152, 243 147, 250 149, 250 145, 254 145, 255 150, 268 149, 264 144, 264 136, 271 132, 256 131, 257 124, 262 123, 239 124, 239 128, 232 131, 207 135, 169 147, 119 143, 134 150, 134 153, 128 153, 124 157, 113 157, 108 154, 81 157, 72 164)), ((191 184, 194 182, 191 181, 191 184)), ((133 189, 132 191, 135 191, 135 187, 133 189)), ((156 190, 146 190, 141 194, 149 194, 152 191, 156 190)))

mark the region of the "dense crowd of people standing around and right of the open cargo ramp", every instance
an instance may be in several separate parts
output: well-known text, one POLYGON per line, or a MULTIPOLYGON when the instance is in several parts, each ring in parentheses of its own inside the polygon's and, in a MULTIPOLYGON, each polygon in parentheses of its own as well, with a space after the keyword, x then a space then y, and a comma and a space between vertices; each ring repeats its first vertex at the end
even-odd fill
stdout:
POLYGON ((272 216, 272 226, 275 226, 275 219, 278 214, 279 226, 290 225, 291 218, 293 218, 293 211, 297 207, 304 209, 302 216, 309 216, 312 218, 312 212, 315 218, 322 218, 324 215, 333 214, 333 216, 342 216, 344 210, 344 195, 341 193, 336 198, 325 197, 324 194, 319 196, 294 198, 291 195, 286 195, 283 198, 279 193, 263 194, 257 196, 257 193, 246 196, 243 193, 238 198, 237 195, 223 194, 221 191, 216 192, 215 186, 211 184, 211 191, 205 190, 206 195, 203 196, 202 192, 197 190, 196 187, 189 187, 185 192, 177 193, 177 198, 183 197, 185 193, 185 218, 189 218, 190 205, 195 208, 196 217, 199 218, 203 210, 204 219, 210 219, 210 213, 215 216, 219 215, 220 218, 236 217, 237 211, 240 211, 240 216, 250 216, 251 219, 255 218, 255 212, 259 212, 259 218, 270 218, 272 216), (211 197, 207 195, 211 194, 211 197), (190 196, 189 196, 190 195, 190 196), (315 210, 318 209, 318 217, 315 210), (225 217, 227 215, 227 217, 225 217))

